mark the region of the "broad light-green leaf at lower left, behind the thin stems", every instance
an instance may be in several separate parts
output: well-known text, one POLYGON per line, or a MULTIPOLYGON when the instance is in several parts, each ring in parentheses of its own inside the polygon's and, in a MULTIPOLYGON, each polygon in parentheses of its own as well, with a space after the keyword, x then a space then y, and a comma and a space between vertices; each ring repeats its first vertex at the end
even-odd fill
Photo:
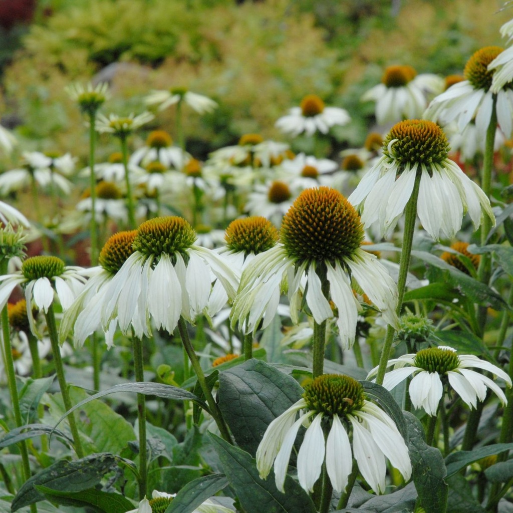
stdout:
MULTIPOLYGON (((70 389, 73 403, 89 399, 85 390, 70 389)), ((82 431, 94 442, 96 452, 119 454, 129 441, 135 440, 132 425, 124 417, 101 401, 91 401, 81 408, 89 417, 88 423, 82 423, 82 431)))

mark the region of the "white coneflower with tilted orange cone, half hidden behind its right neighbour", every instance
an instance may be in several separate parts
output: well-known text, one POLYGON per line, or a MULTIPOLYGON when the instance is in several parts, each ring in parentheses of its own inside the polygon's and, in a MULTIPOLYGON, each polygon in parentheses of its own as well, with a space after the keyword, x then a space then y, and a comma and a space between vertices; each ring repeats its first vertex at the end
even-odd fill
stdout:
MULTIPOLYGON (((134 252, 132 244, 136 234, 137 230, 121 231, 109 237, 98 257, 100 265, 90 269, 91 278, 64 312, 59 328, 61 342, 74 329, 73 344, 75 347, 82 347, 87 337, 101 328, 102 312, 111 299, 108 285, 134 252)), ((113 344, 116 326, 115 321, 106 326, 105 342, 108 348, 113 344)))

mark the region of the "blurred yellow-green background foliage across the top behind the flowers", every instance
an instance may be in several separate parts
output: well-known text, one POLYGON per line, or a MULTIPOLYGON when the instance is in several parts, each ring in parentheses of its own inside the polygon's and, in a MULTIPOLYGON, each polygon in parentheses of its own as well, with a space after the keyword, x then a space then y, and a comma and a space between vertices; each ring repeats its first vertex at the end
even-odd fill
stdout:
MULTIPOLYGON (((84 157, 86 131, 66 85, 108 81, 112 98, 104 112, 125 114, 143 110, 150 89, 187 87, 220 104, 212 114, 186 119, 188 149, 206 156, 247 132, 283 139, 275 120, 316 93, 353 117, 334 131, 337 149, 359 145, 373 111, 360 96, 385 66, 461 73, 472 52, 504 44, 499 28, 513 11, 501 6, 497 0, 0 0, 0 115, 25 148, 84 157)), ((173 109, 159 113, 153 127, 173 134, 173 115, 173 109)), ((100 158, 114 149, 107 141, 100 158)))

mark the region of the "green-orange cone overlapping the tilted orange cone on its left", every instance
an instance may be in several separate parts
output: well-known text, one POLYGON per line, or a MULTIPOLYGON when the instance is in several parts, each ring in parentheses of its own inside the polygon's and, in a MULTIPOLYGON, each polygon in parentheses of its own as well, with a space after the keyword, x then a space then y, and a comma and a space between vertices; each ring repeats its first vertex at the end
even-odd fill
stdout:
POLYGON ((148 257, 160 257, 162 253, 173 255, 176 252, 185 256, 186 250, 195 240, 196 232, 185 219, 169 216, 150 219, 141 224, 137 229, 133 248, 148 257))

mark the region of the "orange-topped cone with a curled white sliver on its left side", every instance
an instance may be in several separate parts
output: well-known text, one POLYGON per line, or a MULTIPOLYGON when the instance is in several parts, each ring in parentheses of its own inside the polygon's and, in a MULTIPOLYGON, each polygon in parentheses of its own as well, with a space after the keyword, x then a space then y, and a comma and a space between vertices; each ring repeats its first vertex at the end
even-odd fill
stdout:
POLYGON ((449 143, 442 129, 427 120, 397 123, 383 144, 383 153, 390 160, 404 165, 439 164, 447 158, 448 151, 449 143))

